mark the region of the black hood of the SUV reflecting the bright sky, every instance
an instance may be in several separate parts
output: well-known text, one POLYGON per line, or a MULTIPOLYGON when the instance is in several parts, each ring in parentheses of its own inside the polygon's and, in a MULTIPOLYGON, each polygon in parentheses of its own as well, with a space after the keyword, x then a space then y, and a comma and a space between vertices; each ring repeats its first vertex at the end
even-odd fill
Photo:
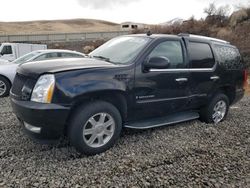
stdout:
POLYGON ((19 66, 17 72, 36 77, 43 73, 56 73, 90 68, 111 68, 116 66, 118 65, 94 58, 68 58, 24 63, 19 66))

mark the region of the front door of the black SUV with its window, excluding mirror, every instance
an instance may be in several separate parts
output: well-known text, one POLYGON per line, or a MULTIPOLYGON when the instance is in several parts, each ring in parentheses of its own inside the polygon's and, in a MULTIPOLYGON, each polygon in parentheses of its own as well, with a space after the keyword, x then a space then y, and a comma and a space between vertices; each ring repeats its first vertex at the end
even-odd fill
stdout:
POLYGON ((164 116, 186 108, 189 96, 190 73, 182 40, 160 40, 153 44, 145 60, 136 66, 135 110, 136 120, 164 116), (143 64, 152 57, 166 57, 167 69, 143 70, 143 64))

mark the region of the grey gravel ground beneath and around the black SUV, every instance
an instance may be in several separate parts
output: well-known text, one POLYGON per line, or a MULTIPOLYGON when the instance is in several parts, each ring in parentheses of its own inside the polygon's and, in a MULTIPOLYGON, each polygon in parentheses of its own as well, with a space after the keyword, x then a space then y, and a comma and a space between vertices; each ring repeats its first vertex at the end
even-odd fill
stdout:
POLYGON ((86 157, 66 143, 33 143, 0 99, 0 187, 250 187, 249 112, 245 97, 219 125, 125 130, 115 147, 86 157))

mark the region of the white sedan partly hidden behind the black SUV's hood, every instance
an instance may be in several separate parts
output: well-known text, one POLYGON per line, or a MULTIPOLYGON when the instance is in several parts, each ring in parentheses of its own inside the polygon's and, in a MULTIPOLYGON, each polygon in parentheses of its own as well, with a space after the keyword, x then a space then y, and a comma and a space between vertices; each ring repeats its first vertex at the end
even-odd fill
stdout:
POLYGON ((71 50, 38 50, 30 52, 11 63, 0 64, 0 97, 9 95, 17 67, 30 61, 42 61, 58 58, 82 58, 85 54, 71 50))

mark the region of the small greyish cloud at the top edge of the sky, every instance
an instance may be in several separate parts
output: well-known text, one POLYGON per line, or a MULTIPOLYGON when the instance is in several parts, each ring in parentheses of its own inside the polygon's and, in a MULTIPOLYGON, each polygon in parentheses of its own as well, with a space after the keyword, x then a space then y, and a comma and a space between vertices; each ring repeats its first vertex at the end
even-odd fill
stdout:
POLYGON ((82 7, 90 7, 93 9, 113 9, 140 0, 77 0, 77 1, 82 7))

